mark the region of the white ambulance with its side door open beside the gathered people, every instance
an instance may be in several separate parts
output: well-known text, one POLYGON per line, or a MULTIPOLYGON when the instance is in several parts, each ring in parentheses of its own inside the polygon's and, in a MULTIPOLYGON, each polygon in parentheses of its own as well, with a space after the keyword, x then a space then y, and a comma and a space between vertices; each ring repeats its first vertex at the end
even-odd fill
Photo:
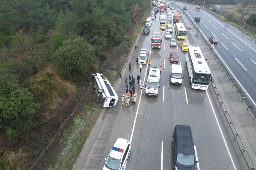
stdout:
POLYGON ((158 96, 158 88, 160 81, 160 70, 158 67, 151 67, 148 73, 147 84, 140 80, 140 89, 145 90, 146 96, 158 96))

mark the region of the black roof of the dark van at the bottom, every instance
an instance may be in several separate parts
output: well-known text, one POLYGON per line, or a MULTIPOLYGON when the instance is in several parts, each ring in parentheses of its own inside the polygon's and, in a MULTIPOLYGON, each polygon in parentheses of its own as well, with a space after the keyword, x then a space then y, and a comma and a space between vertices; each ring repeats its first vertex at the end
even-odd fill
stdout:
POLYGON ((178 153, 193 154, 194 144, 190 126, 176 125, 178 153))

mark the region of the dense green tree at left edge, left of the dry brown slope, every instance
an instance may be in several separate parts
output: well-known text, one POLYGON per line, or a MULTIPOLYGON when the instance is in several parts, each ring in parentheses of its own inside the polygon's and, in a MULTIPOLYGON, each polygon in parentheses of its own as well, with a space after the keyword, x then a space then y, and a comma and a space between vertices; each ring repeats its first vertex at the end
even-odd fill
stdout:
POLYGON ((0 129, 8 139, 35 126, 34 116, 40 105, 33 102, 33 94, 18 85, 17 75, 0 75, 0 129))

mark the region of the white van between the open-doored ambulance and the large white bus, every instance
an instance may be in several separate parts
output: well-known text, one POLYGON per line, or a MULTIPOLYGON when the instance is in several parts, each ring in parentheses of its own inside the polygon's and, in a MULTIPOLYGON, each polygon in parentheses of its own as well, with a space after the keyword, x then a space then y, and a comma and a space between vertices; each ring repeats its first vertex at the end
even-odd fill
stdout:
POLYGON ((180 64, 171 65, 170 83, 175 85, 181 85, 182 83, 182 68, 180 64))

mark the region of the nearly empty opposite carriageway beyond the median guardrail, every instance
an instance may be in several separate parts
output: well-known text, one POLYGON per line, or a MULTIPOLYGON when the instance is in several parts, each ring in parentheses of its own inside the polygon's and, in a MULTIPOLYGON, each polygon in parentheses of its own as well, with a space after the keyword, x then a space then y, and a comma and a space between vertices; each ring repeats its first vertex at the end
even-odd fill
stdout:
MULTIPOLYGON (((184 3, 176 2, 176 5, 181 8, 184 7, 184 3)), ((191 4, 186 4, 186 7, 186 12, 192 19, 200 16, 202 12, 195 10, 195 6, 191 4)), ((199 24, 199 22, 195 23, 196 25, 199 24)), ((252 104, 256 106, 256 91, 254 90, 256 84, 254 76, 256 71, 256 45, 253 43, 254 41, 243 36, 243 33, 224 23, 207 10, 203 11, 200 30, 207 39, 213 35, 219 38, 220 42, 215 44, 216 51, 248 93, 247 95, 251 97, 252 104)))

